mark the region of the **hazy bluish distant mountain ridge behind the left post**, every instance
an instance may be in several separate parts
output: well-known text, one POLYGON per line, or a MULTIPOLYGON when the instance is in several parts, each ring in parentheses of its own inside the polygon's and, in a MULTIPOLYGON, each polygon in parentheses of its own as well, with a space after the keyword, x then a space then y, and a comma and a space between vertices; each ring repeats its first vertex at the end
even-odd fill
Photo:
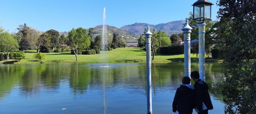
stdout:
POLYGON ((144 33, 144 30, 146 27, 150 27, 150 30, 153 30, 153 28, 156 28, 157 31, 163 30, 167 32, 168 35, 170 35, 172 33, 181 33, 182 32, 181 29, 184 23, 185 23, 185 20, 172 21, 172 22, 157 24, 157 25, 151 25, 147 23, 134 23, 131 25, 125 25, 120 29, 126 30, 130 33, 141 35, 142 33, 144 33))

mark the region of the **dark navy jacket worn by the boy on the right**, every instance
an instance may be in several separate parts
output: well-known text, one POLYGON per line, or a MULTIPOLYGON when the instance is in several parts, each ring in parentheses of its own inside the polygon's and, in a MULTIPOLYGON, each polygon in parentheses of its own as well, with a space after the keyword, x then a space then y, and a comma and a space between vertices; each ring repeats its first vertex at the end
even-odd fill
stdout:
POLYGON ((213 109, 212 101, 208 92, 208 85, 206 82, 199 79, 195 84, 194 88, 196 90, 196 107, 199 112, 203 111, 202 103, 206 105, 208 110, 213 109))

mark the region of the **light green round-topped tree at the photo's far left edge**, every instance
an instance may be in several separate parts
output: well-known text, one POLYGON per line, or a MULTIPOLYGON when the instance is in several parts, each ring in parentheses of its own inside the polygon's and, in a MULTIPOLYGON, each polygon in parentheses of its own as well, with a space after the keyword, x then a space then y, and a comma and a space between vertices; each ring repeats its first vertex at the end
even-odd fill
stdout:
POLYGON ((0 33, 0 51, 7 52, 7 61, 9 59, 9 53, 19 48, 17 40, 8 32, 0 33))

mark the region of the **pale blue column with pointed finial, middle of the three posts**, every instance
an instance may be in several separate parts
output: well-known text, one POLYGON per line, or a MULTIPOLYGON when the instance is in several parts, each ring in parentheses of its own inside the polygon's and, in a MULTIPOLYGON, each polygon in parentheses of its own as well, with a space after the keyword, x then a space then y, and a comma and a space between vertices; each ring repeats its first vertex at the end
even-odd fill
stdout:
POLYGON ((188 76, 190 78, 191 73, 191 61, 190 61, 190 33, 192 27, 188 24, 188 19, 186 20, 185 26, 182 28, 184 34, 184 76, 188 76))

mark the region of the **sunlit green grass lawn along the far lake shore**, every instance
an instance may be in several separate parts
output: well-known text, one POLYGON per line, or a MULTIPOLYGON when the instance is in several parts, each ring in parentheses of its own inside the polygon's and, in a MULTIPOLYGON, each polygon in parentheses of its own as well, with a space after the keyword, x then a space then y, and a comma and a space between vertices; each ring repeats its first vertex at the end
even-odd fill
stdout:
MULTIPOLYGON (((35 50, 25 51, 25 59, 20 62, 16 60, 0 61, 0 63, 76 63, 75 55, 71 55, 70 52, 62 53, 44 53, 45 59, 42 61, 33 59, 35 50)), ((78 63, 100 63, 103 62, 103 51, 101 54, 94 55, 78 55, 78 63)), ((139 48, 125 47, 113 49, 113 51, 105 51, 105 61, 107 62, 146 62, 146 52, 141 51, 139 48)), ((172 61, 184 61, 184 55, 161 55, 156 54, 154 62, 172 62, 172 61)), ((198 61, 196 55, 191 54, 191 62, 198 61)), ((206 61, 218 62, 217 59, 206 58, 206 61)))

